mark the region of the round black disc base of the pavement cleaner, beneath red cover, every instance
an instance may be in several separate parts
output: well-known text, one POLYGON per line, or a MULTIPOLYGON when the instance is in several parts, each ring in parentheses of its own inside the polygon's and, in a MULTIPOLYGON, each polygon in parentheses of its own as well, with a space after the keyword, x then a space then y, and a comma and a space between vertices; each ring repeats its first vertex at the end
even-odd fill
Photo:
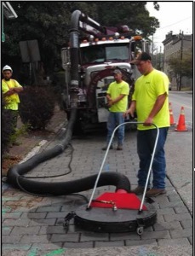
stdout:
POLYGON ((157 211, 149 203, 145 203, 147 210, 98 208, 87 205, 78 207, 75 211, 75 225, 83 230, 94 232, 130 232, 137 231, 141 235, 141 229, 156 223, 157 211))

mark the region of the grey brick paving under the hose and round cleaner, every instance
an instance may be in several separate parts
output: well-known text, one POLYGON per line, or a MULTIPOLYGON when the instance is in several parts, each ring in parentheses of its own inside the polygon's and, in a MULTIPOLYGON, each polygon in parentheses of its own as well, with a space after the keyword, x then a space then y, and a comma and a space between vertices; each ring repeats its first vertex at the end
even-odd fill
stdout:
MULTIPOLYGON (((53 148, 60 141, 60 132, 58 131, 64 123, 63 113, 57 112, 54 119, 51 128, 54 129, 54 136, 36 137, 35 145, 45 138, 47 140, 47 143, 39 147, 40 151, 53 148)), ((146 228, 142 236, 138 236, 136 232, 93 233, 78 229, 73 220, 70 222, 69 229, 65 230, 63 223, 66 214, 75 211, 77 207, 86 203, 82 196, 34 196, 22 190, 14 189, 7 183, 3 184, 3 256, 192 255, 192 210, 191 207, 190 210, 189 207, 186 207, 184 203, 186 199, 183 200, 183 194, 179 193, 180 188, 178 189, 175 183, 171 181, 171 178, 175 181, 175 176, 178 176, 177 168, 181 166, 181 162, 178 162, 180 165, 178 166, 178 160, 175 159, 178 143, 182 144, 182 149, 185 151, 185 139, 186 137, 190 139, 190 136, 190 133, 182 134, 181 142, 181 134, 169 131, 167 194, 154 199, 154 206, 158 211, 158 221, 157 224, 146 228)), ((126 138, 129 143, 125 143, 123 151, 111 150, 109 152, 104 172, 110 170, 123 173, 129 177, 132 189, 134 189, 137 183, 136 171, 139 165, 135 150, 135 133, 129 132, 126 138)), ((29 140, 32 140, 32 137, 29 140)), ((46 181, 49 182, 68 182, 81 177, 88 177, 100 169, 105 154, 100 148, 104 143, 105 136, 100 135, 100 133, 86 137, 73 137, 73 150, 67 148, 64 153, 52 160, 43 162, 27 175, 37 177, 56 175, 55 178, 47 178, 46 181), (68 168, 70 163, 72 170, 68 168), (63 173, 64 176, 57 177, 63 173)), ((17 153, 22 151, 25 156, 29 152, 28 149, 33 148, 32 143, 28 145, 23 144, 23 149, 19 149, 17 146, 15 150, 17 153), (24 153, 25 150, 26 153, 24 153)), ((184 163, 182 165, 184 166, 184 163)), ((183 183, 186 183, 185 178, 190 179, 190 177, 183 177, 183 183)), ((186 187, 181 184, 181 188, 185 189, 186 187)), ((100 187, 96 194, 100 195, 113 189, 112 186, 100 187)), ((189 191, 187 190, 187 192, 189 191)), ((89 199, 91 189, 79 194, 89 199)), ((191 206, 191 200, 189 205, 191 206)))

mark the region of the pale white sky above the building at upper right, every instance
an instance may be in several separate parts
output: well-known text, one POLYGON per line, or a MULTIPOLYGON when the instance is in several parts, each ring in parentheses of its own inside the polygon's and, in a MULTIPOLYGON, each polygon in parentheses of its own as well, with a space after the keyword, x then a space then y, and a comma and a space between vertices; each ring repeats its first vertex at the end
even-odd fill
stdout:
MULTIPOLYGON (((166 34, 173 31, 173 34, 192 34, 192 2, 176 1, 176 2, 158 2, 160 9, 157 11, 153 8, 152 2, 147 2, 146 9, 150 16, 154 16, 160 22, 160 27, 153 35, 154 49, 163 52, 162 41, 166 38, 166 34)), ((151 37, 152 39, 152 37, 151 37)))

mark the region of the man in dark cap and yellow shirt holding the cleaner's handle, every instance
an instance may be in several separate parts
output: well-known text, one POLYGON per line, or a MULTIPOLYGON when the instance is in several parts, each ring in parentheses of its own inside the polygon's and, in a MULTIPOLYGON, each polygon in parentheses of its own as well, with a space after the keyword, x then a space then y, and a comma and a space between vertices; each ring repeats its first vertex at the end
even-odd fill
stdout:
POLYGON ((132 96, 130 108, 124 116, 137 113, 137 121, 143 122, 137 129, 137 153, 140 159, 140 170, 138 171, 138 187, 132 192, 141 195, 146 185, 146 177, 157 137, 159 137, 154 160, 152 163, 153 181, 150 189, 150 180, 147 186, 147 197, 158 196, 166 193, 166 161, 164 154, 164 143, 169 130, 169 79, 167 75, 152 67, 151 56, 142 52, 131 63, 135 64, 142 76, 135 82, 135 91, 132 96), (152 125, 154 124, 154 125, 152 125))

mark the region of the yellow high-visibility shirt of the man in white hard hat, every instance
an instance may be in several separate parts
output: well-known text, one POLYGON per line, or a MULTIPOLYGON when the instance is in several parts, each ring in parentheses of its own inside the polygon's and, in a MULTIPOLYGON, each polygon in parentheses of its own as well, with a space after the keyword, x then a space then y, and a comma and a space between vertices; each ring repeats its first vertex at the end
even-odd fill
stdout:
MULTIPOLYGON (((2 93, 3 94, 5 94, 7 91, 9 91, 10 88, 15 88, 15 87, 22 87, 22 86, 14 79, 9 79, 9 81, 2 79, 2 93)), ((14 93, 10 96, 5 96, 4 99, 6 102, 6 105, 4 108, 18 110, 18 103, 20 103, 20 98, 17 93, 14 93)))

